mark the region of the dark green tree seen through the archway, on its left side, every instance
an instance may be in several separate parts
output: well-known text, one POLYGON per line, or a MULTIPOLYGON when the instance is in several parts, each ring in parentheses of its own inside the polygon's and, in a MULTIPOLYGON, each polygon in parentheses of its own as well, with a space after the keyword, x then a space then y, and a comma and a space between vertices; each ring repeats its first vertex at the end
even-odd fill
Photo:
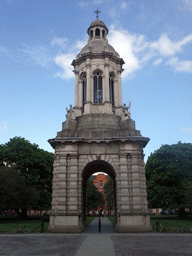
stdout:
POLYGON ((91 208, 97 209, 98 206, 103 207, 104 198, 102 192, 99 192, 96 186, 93 184, 92 179, 87 181, 87 210, 91 208))

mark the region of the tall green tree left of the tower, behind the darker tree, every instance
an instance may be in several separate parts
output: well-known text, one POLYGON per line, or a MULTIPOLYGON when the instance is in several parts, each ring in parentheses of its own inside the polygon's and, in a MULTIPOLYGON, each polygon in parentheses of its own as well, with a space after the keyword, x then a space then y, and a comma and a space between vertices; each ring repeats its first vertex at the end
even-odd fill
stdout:
POLYGON ((14 164, 26 185, 38 191, 33 209, 50 209, 52 195, 53 154, 21 137, 14 137, 0 147, 0 164, 14 164))

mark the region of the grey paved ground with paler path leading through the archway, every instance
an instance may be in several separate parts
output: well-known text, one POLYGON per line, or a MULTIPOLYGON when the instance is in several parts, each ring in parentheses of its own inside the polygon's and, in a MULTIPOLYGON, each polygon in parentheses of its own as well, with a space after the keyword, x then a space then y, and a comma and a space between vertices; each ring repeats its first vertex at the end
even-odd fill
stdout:
POLYGON ((192 255, 191 234, 118 234, 106 217, 101 223, 101 233, 96 218, 82 234, 0 235, 0 255, 192 255))

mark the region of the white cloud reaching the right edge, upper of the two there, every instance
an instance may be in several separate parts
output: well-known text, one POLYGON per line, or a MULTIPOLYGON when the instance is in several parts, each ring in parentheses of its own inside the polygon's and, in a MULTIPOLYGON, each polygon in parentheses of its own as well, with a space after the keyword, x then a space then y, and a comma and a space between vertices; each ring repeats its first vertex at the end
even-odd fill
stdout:
POLYGON ((190 42, 192 42, 192 34, 176 43, 172 42, 167 34, 162 34, 158 41, 151 44, 151 47, 162 56, 174 56, 176 53, 183 51, 182 46, 190 42))

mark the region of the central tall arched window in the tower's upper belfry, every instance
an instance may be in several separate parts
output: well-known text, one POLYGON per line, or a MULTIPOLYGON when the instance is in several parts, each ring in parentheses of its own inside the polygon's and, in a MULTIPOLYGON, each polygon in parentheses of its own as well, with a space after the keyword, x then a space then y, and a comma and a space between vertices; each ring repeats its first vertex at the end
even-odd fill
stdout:
POLYGON ((93 78, 94 103, 103 102, 102 76, 100 72, 95 73, 93 78))

